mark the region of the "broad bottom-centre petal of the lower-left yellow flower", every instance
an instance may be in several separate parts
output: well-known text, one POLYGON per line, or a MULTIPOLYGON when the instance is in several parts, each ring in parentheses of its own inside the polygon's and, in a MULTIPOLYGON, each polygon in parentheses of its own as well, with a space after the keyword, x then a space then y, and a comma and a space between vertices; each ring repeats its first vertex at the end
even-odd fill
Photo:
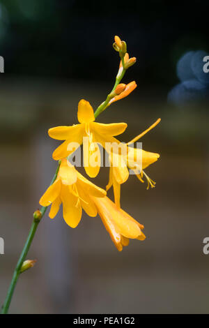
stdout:
POLYGON ((70 193, 68 186, 62 186, 63 218, 71 228, 76 228, 82 218, 82 206, 75 195, 70 193))

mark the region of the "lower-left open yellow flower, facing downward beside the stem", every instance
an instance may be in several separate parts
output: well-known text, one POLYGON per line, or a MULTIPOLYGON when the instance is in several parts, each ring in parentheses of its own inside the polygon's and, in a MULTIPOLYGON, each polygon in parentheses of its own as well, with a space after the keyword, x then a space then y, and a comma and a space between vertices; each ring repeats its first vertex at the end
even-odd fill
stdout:
POLYGON ((75 170, 66 159, 61 161, 59 173, 52 186, 40 198, 40 205, 52 207, 49 218, 54 218, 63 203, 63 218, 71 228, 77 227, 82 218, 82 209, 89 216, 98 214, 91 196, 104 197, 106 191, 92 184, 75 170))

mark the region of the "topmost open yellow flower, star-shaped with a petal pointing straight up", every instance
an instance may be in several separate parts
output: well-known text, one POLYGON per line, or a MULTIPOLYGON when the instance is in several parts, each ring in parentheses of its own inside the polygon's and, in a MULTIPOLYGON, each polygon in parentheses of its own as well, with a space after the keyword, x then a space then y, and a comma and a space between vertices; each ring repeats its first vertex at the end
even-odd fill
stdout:
POLYGON ((88 101, 79 101, 77 119, 79 124, 73 126, 57 126, 49 128, 49 136, 56 140, 65 140, 55 149, 52 157, 58 161, 68 157, 83 142, 83 137, 87 137, 88 145, 84 147, 84 168, 89 177, 96 177, 100 170, 100 149, 98 142, 114 142, 115 135, 120 135, 125 131, 127 124, 113 123, 102 124, 95 122, 93 108, 88 101), (76 144, 70 148, 70 142, 76 144), (95 161, 91 162, 94 158, 95 161))

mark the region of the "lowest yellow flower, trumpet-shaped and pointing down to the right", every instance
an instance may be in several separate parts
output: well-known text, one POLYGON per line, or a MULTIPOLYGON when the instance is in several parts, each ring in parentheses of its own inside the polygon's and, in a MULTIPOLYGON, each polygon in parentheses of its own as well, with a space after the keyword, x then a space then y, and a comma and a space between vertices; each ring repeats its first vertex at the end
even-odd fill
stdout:
POLYGON ((138 223, 132 216, 123 209, 118 209, 116 204, 108 197, 92 197, 98 214, 104 223, 104 227, 110 234, 110 237, 118 251, 122 251, 123 246, 129 244, 129 239, 144 240, 146 237, 141 231, 144 225, 138 223))

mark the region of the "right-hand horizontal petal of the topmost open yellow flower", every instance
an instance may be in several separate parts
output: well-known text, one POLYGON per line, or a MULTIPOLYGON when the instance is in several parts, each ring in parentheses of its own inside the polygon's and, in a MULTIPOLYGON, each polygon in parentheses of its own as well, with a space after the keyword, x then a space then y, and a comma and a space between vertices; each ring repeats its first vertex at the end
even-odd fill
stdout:
POLYGON ((102 123, 97 123, 93 122, 91 124, 91 128, 93 131, 98 133, 99 135, 121 135, 127 128, 126 123, 112 123, 112 124, 102 124, 102 123))

